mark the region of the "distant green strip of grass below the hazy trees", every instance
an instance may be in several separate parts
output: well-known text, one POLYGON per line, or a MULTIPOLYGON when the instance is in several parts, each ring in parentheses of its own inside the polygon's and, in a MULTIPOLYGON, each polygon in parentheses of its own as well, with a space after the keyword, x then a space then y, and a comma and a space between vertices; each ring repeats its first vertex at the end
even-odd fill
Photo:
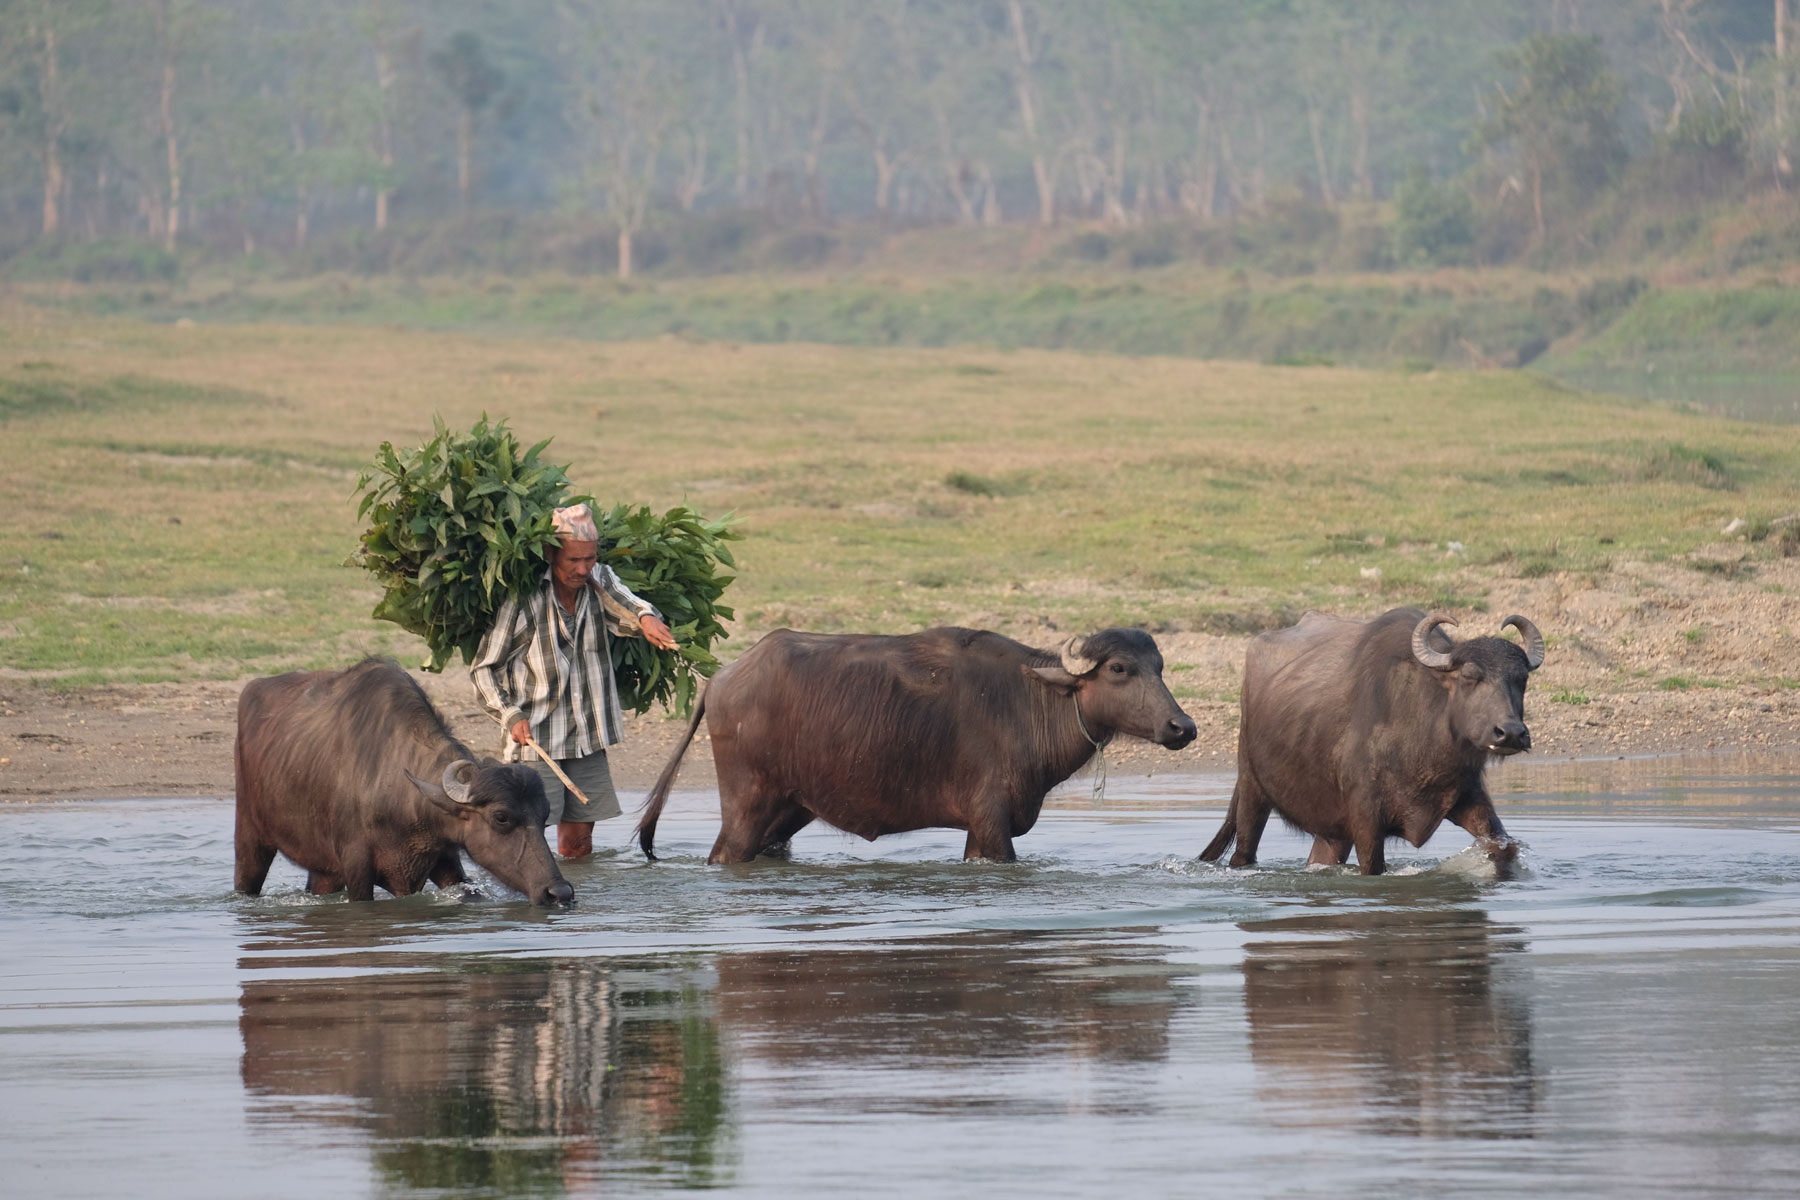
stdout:
POLYGON ((293 279, 221 268, 137 284, 14 286, 88 317, 398 324, 589 340, 1075 349, 1269 365, 1530 365, 1584 390, 1800 423, 1800 282, 1435 270, 1267 275, 1049 261, 959 277, 788 272, 621 284, 574 273, 293 279))

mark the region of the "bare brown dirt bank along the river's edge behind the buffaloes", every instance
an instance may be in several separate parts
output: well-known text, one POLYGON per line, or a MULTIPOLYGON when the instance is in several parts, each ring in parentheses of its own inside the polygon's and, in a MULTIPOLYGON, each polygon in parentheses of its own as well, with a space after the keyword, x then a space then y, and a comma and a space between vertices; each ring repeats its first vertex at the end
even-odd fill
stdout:
MULTIPOLYGON (((1490 612, 1462 613, 1460 633, 1490 631, 1505 613, 1521 612, 1550 640, 1526 696, 1535 756, 1800 745, 1800 558, 1735 570, 1721 554, 1721 567, 1625 563, 1598 578, 1489 581, 1490 612)), ((1345 612, 1381 608, 1379 597, 1366 597, 1345 612)), ((1229 770, 1249 639, 1165 633, 1157 640, 1199 738, 1179 754, 1147 743, 1111 747, 1109 770, 1229 770)), ((482 752, 499 745, 466 675, 419 678, 459 738, 482 752)), ((52 693, 0 675, 0 801, 229 795, 239 687, 52 693)), ((626 741, 614 750, 626 802, 650 784, 684 727, 661 714, 626 723, 626 741)), ((700 730, 682 784, 711 784, 711 766, 700 730)))

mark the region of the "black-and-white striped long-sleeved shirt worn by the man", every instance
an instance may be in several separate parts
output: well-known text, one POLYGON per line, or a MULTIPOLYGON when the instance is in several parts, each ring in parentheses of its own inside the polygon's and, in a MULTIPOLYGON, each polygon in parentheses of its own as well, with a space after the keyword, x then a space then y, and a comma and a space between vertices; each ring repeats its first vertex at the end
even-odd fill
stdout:
MULTIPOLYGON (((661 617, 653 604, 619 583, 612 567, 594 567, 590 587, 576 596, 574 613, 556 603, 549 572, 544 587, 524 599, 506 601, 493 628, 481 639, 470 678, 481 707, 511 730, 522 718, 551 757, 594 754, 625 739, 619 687, 612 680, 607 617, 596 588, 639 617, 661 617)), ((504 734, 502 757, 518 761, 520 747, 504 734)))

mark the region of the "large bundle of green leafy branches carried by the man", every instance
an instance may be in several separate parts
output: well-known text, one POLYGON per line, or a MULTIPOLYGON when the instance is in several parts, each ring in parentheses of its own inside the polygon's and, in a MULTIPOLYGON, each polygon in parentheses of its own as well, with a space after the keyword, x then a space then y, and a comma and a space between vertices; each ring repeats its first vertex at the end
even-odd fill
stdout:
MULTIPOLYGON (((482 416, 466 434, 436 419, 434 437, 414 450, 382 443, 356 480, 367 518, 355 560, 382 581, 378 621, 392 621, 425 639, 427 671, 441 671, 457 653, 473 662, 493 613, 508 599, 544 585, 545 552, 556 545, 558 507, 590 502, 571 493, 562 466, 540 455, 549 439, 520 450, 506 421, 482 416)), ((652 703, 686 711, 697 678, 718 669, 718 622, 733 612, 718 604, 731 576, 727 520, 707 522, 688 507, 655 516, 619 506, 598 520, 599 556, 632 592, 655 604, 680 648, 662 651, 643 639, 612 640, 614 673, 625 707, 652 703)))

